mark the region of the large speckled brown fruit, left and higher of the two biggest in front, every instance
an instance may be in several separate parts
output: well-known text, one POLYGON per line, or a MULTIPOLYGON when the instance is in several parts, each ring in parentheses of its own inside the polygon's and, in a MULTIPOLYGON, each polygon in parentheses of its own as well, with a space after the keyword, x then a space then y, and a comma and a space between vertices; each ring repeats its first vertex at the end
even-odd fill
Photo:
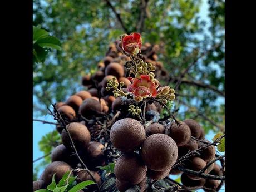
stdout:
POLYGON ((110 130, 112 145, 122 152, 135 151, 145 139, 144 127, 135 119, 125 118, 118 120, 110 130))

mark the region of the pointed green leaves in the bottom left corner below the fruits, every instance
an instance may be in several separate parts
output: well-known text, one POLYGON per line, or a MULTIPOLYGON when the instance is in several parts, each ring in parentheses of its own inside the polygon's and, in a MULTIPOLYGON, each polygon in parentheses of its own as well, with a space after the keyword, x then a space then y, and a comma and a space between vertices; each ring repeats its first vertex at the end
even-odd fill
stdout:
POLYGON ((82 181, 76 184, 76 177, 70 175, 70 171, 65 173, 61 180, 56 184, 55 174, 52 176, 52 183, 47 186, 46 189, 36 190, 35 192, 78 192, 81 189, 85 189, 86 186, 95 184, 93 181, 82 181))

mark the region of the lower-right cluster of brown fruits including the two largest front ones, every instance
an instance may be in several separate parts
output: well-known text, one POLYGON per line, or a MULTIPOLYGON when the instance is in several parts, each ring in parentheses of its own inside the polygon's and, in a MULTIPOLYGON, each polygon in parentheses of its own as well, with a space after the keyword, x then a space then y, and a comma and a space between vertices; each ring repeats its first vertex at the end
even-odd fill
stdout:
MULTIPOLYGON (((159 180, 169 174, 180 174, 181 171, 172 169, 178 157, 209 142, 204 139, 204 130, 192 119, 178 124, 173 121, 166 127, 155 122, 146 129, 135 119, 121 119, 112 126, 110 139, 116 149, 124 153, 115 165, 116 186, 121 192, 135 184, 141 185, 141 191, 144 191, 146 177, 159 180)), ((186 159, 182 166, 200 171, 214 159, 215 152, 214 146, 206 147, 200 155, 186 159)), ((222 174, 220 166, 215 163, 205 173, 222 174)), ((205 186, 205 191, 214 191, 219 185, 217 180, 206 180, 186 173, 182 173, 181 182, 187 187, 205 186)))

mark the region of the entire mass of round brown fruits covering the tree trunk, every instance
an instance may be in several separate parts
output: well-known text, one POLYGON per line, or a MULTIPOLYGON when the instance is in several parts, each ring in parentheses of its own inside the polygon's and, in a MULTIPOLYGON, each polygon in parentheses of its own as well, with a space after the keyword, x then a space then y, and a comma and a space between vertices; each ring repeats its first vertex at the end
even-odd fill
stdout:
MULTIPOLYGON (((128 77, 126 63, 130 61, 130 57, 122 53, 118 43, 116 41, 110 45, 106 57, 98 64, 99 71, 82 78, 82 85, 87 87, 87 91, 77 92, 66 102, 58 102, 55 107, 66 122, 66 128, 70 132, 78 154, 91 170, 98 185, 106 179, 98 166, 116 161, 116 188, 122 192, 133 185, 139 185, 140 191, 145 191, 147 181, 150 179, 159 180, 169 174, 180 174, 181 171, 173 169, 176 160, 189 151, 206 145, 209 141, 204 139, 203 129, 194 120, 185 120, 178 124, 176 121, 169 123, 154 120, 152 116, 159 115, 163 110, 159 102, 155 101, 146 103, 145 119, 149 123, 147 126, 142 125, 141 119, 129 112, 129 106, 134 104, 134 100, 127 97, 116 98, 112 90, 106 90, 109 80, 116 83, 124 82, 121 90, 125 93, 128 92, 127 87, 131 84, 126 78, 128 77)), ((141 53, 145 62, 155 66, 155 77, 160 78, 166 75, 166 71, 163 64, 157 61, 158 49, 157 45, 145 43, 141 47, 141 53)), ((159 85, 159 87, 163 86, 159 85)), ((33 182, 33 191, 43 189, 50 184, 53 174, 56 173, 57 182, 67 171, 81 166, 64 127, 60 124, 56 129, 61 134, 62 144, 52 151, 52 163, 43 171, 40 180, 33 182)), ((215 147, 210 146, 200 154, 186 159, 181 166, 199 171, 214 157, 215 147)), ((215 163, 205 173, 222 174, 220 166, 215 163)), ((92 180, 85 170, 74 174, 78 183, 92 180)), ((219 185, 216 180, 205 180, 186 173, 182 173, 181 182, 184 186, 209 188, 205 191, 214 191, 219 185)), ((91 185, 83 191, 96 189, 95 185, 91 185)))

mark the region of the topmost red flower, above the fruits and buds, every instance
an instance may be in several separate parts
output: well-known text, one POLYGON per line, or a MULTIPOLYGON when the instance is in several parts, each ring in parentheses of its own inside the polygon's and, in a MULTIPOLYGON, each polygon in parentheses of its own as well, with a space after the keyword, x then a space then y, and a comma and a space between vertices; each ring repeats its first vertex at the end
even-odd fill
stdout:
POLYGON ((122 49, 130 54, 138 54, 141 50, 142 39, 140 33, 131 33, 122 38, 122 49))

